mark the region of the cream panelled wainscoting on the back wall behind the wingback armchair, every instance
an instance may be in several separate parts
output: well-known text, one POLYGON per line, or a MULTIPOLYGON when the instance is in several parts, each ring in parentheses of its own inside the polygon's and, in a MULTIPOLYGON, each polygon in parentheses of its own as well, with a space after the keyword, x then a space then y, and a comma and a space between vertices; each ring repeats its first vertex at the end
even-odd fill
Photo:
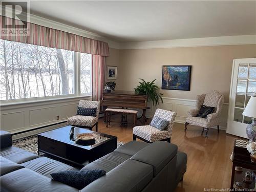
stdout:
MULTIPOLYGON (((175 118, 175 122, 185 123, 185 120, 188 117, 187 111, 196 108, 196 100, 163 97, 163 103, 160 102, 157 106, 153 106, 152 103, 148 103, 148 106, 151 107, 150 110, 146 111, 146 116, 149 118, 152 118, 155 114, 156 109, 160 108, 176 112, 177 116, 175 118)), ((220 129, 222 130, 226 130, 227 127, 227 114, 228 103, 224 103, 222 106, 222 122, 220 123, 220 129)))

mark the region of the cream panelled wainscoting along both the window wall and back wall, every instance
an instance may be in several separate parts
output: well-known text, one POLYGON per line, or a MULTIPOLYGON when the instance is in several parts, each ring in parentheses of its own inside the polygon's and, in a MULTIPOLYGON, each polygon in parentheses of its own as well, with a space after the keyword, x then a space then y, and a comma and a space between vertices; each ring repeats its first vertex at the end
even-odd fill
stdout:
MULTIPOLYGON (((14 135, 13 139, 17 139, 56 129, 60 126, 65 126, 66 123, 61 122, 66 121, 70 116, 76 114, 79 100, 91 100, 91 97, 67 98, 54 101, 42 101, 1 106, 0 128, 1 130, 14 134, 18 132, 33 130, 41 126, 60 123, 42 128, 40 130, 34 130, 31 132, 14 135), (59 120, 57 120, 57 116, 59 116, 59 120)), ((152 103, 148 103, 148 106, 151 106, 151 109, 146 111, 146 116, 152 118, 156 109, 161 108, 177 112, 175 122, 185 123, 187 111, 190 109, 195 109, 195 105, 196 100, 163 97, 163 103, 159 103, 157 106, 152 106, 152 103)), ((220 124, 220 129, 222 130, 226 130, 227 114, 228 104, 224 103, 222 109, 222 123, 220 124)), ((139 115, 141 115, 141 113, 139 113, 139 115)))

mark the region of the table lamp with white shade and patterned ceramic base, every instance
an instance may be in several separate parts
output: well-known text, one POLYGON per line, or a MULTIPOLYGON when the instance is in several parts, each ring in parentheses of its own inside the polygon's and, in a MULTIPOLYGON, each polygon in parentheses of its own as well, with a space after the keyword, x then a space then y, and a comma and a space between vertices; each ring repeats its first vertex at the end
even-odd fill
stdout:
POLYGON ((251 117, 251 124, 246 127, 246 134, 250 142, 256 141, 256 97, 251 96, 249 102, 244 109, 243 115, 251 117))

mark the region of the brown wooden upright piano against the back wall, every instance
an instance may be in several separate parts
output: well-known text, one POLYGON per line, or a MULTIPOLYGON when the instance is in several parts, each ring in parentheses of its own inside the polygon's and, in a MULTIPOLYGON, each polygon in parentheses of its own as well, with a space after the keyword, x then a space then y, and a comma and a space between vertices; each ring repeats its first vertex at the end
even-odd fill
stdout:
POLYGON ((146 119, 147 96, 137 95, 132 91, 113 91, 111 93, 103 93, 101 106, 104 111, 104 122, 106 120, 105 109, 111 107, 119 107, 122 109, 136 108, 142 110, 143 124, 146 119))

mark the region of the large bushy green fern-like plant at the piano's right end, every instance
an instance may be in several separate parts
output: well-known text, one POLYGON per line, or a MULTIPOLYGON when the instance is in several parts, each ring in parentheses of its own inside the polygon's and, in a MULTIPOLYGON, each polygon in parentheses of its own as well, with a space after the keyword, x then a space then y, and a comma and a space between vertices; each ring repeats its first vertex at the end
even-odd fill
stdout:
POLYGON ((153 105, 159 104, 159 98, 161 102, 163 103, 163 99, 161 95, 162 93, 159 93, 159 87, 156 86, 155 80, 146 82, 144 79, 140 79, 142 82, 139 82, 140 84, 134 88, 135 94, 143 94, 147 96, 148 101, 152 101, 153 105))

